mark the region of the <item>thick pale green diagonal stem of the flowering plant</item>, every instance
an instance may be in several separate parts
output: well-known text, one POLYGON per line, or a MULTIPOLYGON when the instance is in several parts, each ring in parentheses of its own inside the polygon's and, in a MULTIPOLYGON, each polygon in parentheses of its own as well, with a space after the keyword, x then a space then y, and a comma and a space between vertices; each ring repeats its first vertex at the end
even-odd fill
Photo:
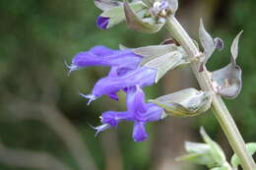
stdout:
MULTIPOLYGON (((200 56, 201 52, 188 35, 188 33, 182 28, 174 16, 170 16, 166 22, 165 27, 170 31, 172 36, 183 46, 185 51, 190 57, 200 56)), ((256 166, 252 156, 249 155, 245 148, 245 142, 243 141, 229 111, 227 110, 222 97, 213 89, 211 79, 207 73, 206 68, 203 72, 199 72, 199 63, 191 62, 191 69, 196 76, 196 79, 203 90, 209 90, 213 92, 213 104, 212 110, 223 128, 224 134, 233 148, 234 152, 238 156, 241 165, 244 170, 255 170, 256 166)))

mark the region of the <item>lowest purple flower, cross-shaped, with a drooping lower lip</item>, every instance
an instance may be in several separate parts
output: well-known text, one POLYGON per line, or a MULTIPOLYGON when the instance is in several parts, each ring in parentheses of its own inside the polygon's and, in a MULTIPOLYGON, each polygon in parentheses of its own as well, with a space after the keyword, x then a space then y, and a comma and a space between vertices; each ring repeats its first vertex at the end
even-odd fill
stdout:
POLYGON ((148 122, 159 121, 163 109, 154 103, 145 102, 145 94, 139 85, 131 86, 126 90, 127 111, 107 111, 102 114, 102 125, 96 127, 96 134, 110 127, 116 127, 121 121, 133 121, 133 139, 135 142, 144 142, 148 138, 145 125, 148 122))

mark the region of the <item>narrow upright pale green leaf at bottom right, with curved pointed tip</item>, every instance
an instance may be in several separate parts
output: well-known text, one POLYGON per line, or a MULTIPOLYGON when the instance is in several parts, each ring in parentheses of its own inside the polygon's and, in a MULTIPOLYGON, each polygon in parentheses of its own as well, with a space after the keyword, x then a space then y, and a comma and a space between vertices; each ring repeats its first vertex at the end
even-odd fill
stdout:
POLYGON ((204 140, 204 142, 208 143, 210 145, 210 152, 213 157, 213 159, 220 165, 222 166, 224 164, 225 160, 225 155, 222 147, 217 143, 214 142, 205 132, 204 128, 201 127, 200 129, 200 134, 204 140))

